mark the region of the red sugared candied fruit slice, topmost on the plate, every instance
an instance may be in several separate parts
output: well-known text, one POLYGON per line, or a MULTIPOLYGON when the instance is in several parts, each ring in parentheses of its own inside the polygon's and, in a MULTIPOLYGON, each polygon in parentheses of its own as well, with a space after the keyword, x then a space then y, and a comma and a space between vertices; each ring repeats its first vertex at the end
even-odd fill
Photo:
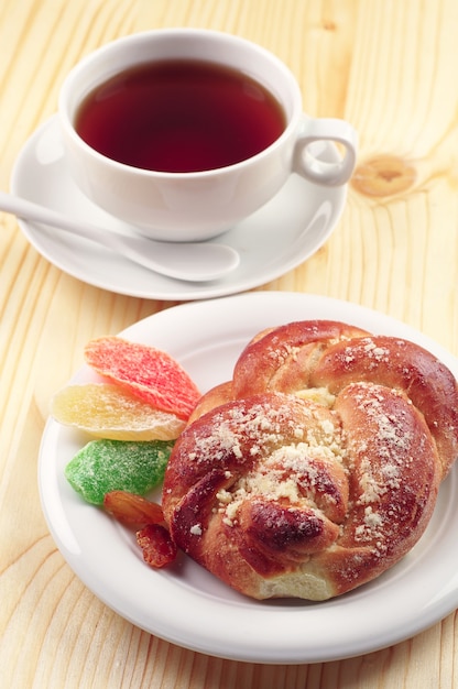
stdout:
POLYGON ((119 337, 101 337, 85 348, 100 375, 163 412, 186 420, 200 397, 186 371, 166 352, 119 337))

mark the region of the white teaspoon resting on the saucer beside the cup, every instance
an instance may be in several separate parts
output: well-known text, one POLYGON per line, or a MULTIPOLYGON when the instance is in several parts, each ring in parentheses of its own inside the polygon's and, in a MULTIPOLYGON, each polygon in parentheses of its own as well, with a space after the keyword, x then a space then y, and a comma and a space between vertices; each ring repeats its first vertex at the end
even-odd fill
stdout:
POLYGON ((146 237, 119 234, 52 208, 0 192, 0 210, 23 220, 43 222, 106 247, 155 273, 188 282, 217 280, 240 263, 238 252, 227 244, 208 242, 162 242, 146 237))

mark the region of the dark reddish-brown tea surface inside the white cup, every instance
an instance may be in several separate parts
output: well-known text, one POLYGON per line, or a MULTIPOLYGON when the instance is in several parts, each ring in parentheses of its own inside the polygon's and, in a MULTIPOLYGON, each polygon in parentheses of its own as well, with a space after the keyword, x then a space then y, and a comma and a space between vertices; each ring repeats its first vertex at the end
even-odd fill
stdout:
POLYGON ((200 61, 135 66, 96 88, 76 118, 92 149, 134 167, 197 172, 232 165, 285 129, 281 105, 241 72, 200 61))

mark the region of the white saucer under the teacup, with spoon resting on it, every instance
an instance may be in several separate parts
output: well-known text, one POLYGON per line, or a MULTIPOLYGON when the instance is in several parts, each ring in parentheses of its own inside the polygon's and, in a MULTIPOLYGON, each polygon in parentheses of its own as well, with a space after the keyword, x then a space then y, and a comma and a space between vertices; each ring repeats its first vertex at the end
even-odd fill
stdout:
MULTIPOLYGON (((326 146, 321 157, 335 160, 334 146, 326 146)), ((75 186, 65 164, 57 116, 25 143, 14 165, 11 189, 75 218, 129 231, 129 226, 91 204, 75 186)), ((292 175, 274 199, 215 240, 240 252, 239 267, 221 280, 197 285, 152 273, 68 233, 23 220, 19 225, 51 263, 90 285, 144 298, 201 299, 244 292, 303 263, 336 227, 346 195, 347 187, 324 188, 292 175)))

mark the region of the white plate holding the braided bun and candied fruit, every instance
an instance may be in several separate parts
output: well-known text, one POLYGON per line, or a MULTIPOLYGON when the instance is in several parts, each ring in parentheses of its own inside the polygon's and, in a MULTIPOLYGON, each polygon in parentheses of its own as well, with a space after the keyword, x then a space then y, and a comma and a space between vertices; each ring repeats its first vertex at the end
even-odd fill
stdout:
MULTIPOLYGON (((457 375, 458 361, 388 316, 326 297, 258 292, 161 311, 123 336, 171 352, 201 391, 227 380, 255 332, 296 319, 330 318, 423 344, 457 375), (179 337, 176 332, 179 331, 179 337)), ((74 380, 91 375, 81 369, 74 380)), ((397 643, 450 613, 458 603, 458 471, 440 488, 432 522, 395 567, 346 595, 321 603, 257 602, 239 595, 186 557, 170 570, 142 561, 130 534, 85 504, 64 468, 87 440, 50 420, 40 452, 43 510, 76 575, 111 609, 170 642, 253 663, 318 663, 397 643)))

